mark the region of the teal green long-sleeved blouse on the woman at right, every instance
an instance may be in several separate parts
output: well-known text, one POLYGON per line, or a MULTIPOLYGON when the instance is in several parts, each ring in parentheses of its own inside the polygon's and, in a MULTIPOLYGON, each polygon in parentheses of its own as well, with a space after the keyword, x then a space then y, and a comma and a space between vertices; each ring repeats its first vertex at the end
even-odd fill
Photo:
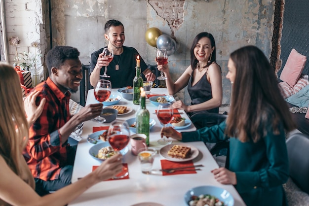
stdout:
MULTIPOLYGON (((182 132, 182 141, 217 142, 227 137, 226 122, 194 132, 182 132)), ((289 176, 289 163, 283 128, 275 135, 270 126, 258 142, 230 138, 230 171, 237 178, 236 190, 247 206, 283 206, 282 187, 289 176)))

